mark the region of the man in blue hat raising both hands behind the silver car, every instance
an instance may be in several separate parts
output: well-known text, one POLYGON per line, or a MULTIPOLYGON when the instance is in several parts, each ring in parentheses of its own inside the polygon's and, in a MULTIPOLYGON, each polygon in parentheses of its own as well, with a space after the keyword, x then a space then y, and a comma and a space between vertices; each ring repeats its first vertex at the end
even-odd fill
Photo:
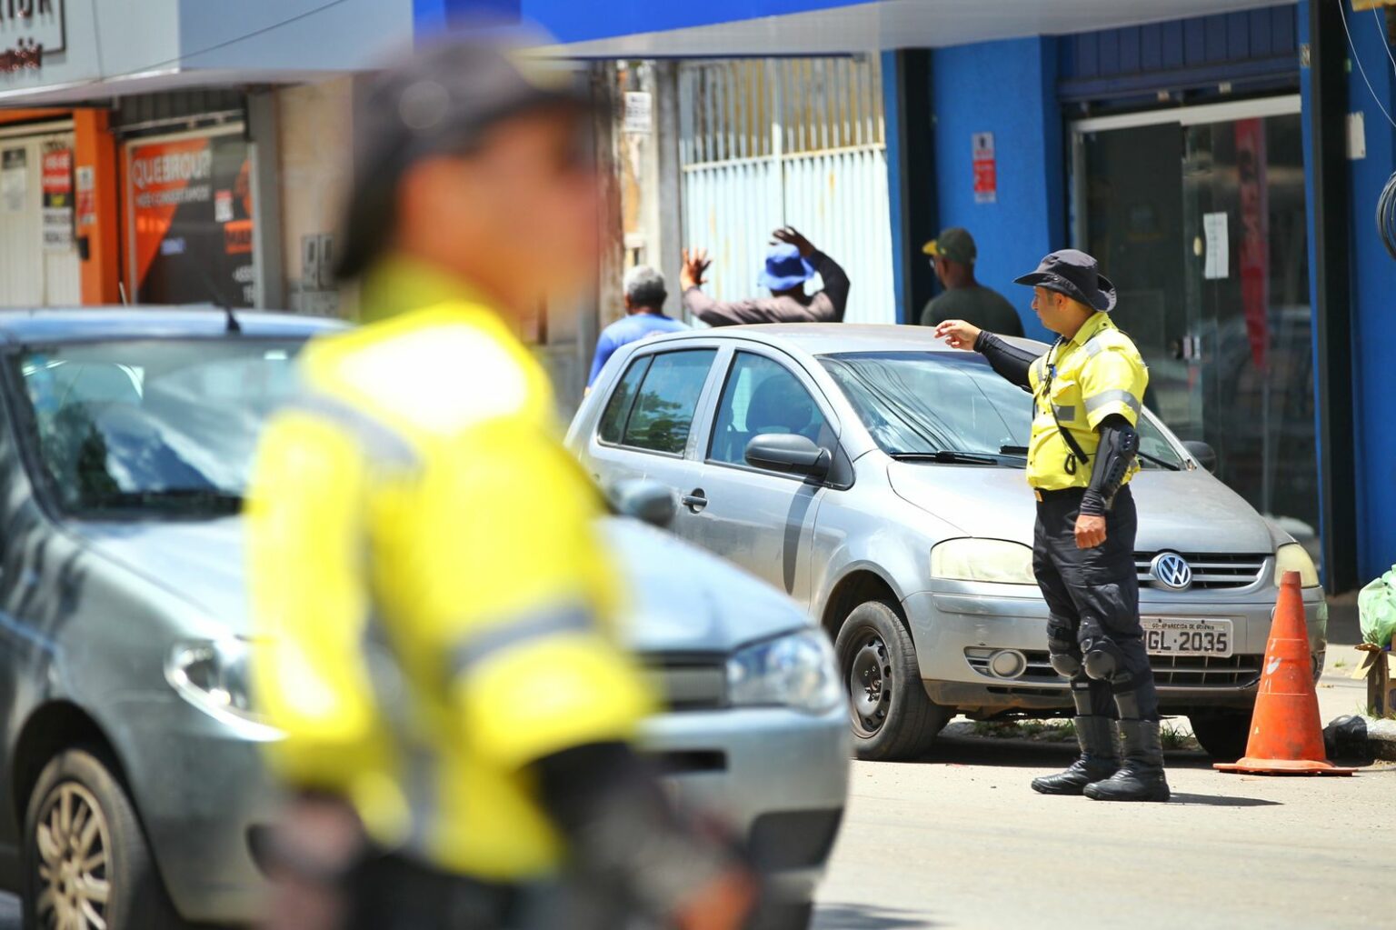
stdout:
POLYGON ((766 267, 757 283, 771 292, 769 297, 719 302, 699 288, 704 272, 712 267, 706 249, 684 249, 678 283, 684 290, 684 307, 711 327, 732 327, 743 323, 843 323, 849 304, 849 275, 833 258, 814 247, 794 226, 783 226, 771 233, 776 242, 766 253, 766 267), (824 290, 804 292, 804 282, 819 272, 824 290))

